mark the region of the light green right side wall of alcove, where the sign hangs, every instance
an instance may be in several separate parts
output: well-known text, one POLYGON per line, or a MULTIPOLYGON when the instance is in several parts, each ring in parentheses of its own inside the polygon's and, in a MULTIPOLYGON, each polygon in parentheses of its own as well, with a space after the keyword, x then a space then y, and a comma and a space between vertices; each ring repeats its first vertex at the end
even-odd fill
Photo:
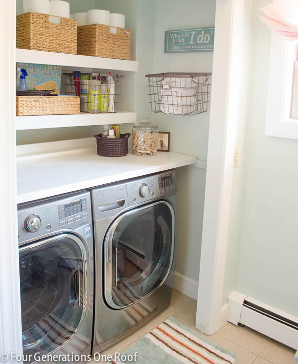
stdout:
MULTIPOLYGON (((212 72, 213 53, 163 53, 164 31, 214 26, 215 0, 158 0, 156 8, 154 73, 212 72)), ((152 114, 160 131, 170 132, 170 150, 207 160, 209 110, 186 117, 152 114)), ((206 171, 177 170, 178 209, 175 270, 198 280, 206 171)))

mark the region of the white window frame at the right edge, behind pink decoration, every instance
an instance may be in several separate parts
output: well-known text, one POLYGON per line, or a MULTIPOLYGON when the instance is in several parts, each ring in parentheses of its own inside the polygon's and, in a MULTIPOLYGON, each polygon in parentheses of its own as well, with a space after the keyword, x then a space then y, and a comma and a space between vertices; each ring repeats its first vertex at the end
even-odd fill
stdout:
POLYGON ((298 139, 298 119, 291 118, 297 44, 272 33, 265 135, 298 139))

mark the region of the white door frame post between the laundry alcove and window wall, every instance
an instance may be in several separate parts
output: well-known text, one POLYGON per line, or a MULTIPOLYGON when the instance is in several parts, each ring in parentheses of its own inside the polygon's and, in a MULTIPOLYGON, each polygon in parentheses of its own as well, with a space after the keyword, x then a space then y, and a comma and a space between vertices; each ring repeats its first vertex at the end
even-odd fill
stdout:
MULTIPOLYGON (((253 3, 253 1, 251 1, 253 3)), ((240 52, 245 0, 217 0, 212 95, 196 327, 212 335, 227 321, 222 312, 232 193, 240 52)), ((247 4, 245 5, 247 6, 247 4)), ((252 6, 252 5, 250 5, 252 6)), ((246 50, 247 51, 247 50, 246 50)), ((247 70, 248 72, 248 70, 247 70)), ((227 311, 227 305, 225 305, 227 311)))

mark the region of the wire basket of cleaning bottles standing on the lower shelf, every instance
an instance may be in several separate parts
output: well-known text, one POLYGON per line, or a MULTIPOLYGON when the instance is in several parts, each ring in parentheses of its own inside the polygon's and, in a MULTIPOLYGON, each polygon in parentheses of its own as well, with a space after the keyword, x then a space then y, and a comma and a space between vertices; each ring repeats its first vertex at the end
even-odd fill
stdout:
POLYGON ((61 93, 80 97, 80 112, 114 113, 117 97, 121 94, 118 85, 120 74, 63 73, 61 93))

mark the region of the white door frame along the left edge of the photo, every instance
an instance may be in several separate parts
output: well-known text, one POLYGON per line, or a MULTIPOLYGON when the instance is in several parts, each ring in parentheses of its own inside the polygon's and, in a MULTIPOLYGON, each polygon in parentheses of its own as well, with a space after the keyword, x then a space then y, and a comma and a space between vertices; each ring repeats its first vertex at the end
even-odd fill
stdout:
MULTIPOLYGON (((11 353, 22 354, 15 155, 15 7, 15 0, 2 1, 0 12, 0 354, 8 354, 9 363, 11 353)), ((7 363, 3 359, 0 355, 0 364, 7 363)))

